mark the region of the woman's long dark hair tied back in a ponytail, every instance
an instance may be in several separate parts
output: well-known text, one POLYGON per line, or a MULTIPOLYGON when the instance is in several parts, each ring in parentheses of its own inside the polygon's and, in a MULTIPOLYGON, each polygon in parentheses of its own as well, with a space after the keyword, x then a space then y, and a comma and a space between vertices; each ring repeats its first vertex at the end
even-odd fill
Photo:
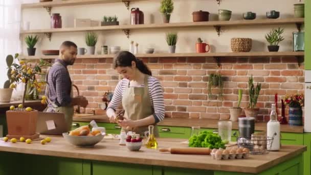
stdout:
POLYGON ((135 61, 136 67, 140 72, 150 76, 152 75, 150 69, 141 59, 136 58, 135 55, 127 51, 121 51, 116 55, 113 61, 113 67, 114 69, 117 67, 131 67, 132 61, 135 61))

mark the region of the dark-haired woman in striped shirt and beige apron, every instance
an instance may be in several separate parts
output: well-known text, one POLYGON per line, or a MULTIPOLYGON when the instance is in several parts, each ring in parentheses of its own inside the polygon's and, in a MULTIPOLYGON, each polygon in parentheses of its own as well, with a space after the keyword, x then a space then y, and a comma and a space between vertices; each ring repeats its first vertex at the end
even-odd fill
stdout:
MULTIPOLYGON (((164 99, 162 86, 151 76, 147 65, 127 51, 120 52, 113 61, 114 69, 123 75, 118 83, 112 101, 107 108, 110 122, 116 121, 116 109, 122 102, 124 120, 118 124, 126 131, 138 134, 148 130, 148 125, 156 125, 164 119, 164 99)), ((154 136, 159 136, 154 127, 154 136)))

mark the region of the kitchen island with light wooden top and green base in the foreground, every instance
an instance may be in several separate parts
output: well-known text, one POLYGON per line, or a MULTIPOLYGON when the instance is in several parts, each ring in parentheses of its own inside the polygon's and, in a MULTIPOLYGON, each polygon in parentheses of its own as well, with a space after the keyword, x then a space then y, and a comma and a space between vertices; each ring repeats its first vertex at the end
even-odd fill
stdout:
MULTIPOLYGON (((41 136, 42 138, 46 136, 41 136)), ((302 174, 305 146, 248 159, 221 160, 206 155, 171 155, 142 147, 138 152, 104 139, 94 148, 70 145, 62 137, 41 145, 0 141, 0 174, 302 174)), ((144 140, 145 141, 145 140, 144 140)), ((158 139, 159 147, 186 147, 182 139, 158 139)))

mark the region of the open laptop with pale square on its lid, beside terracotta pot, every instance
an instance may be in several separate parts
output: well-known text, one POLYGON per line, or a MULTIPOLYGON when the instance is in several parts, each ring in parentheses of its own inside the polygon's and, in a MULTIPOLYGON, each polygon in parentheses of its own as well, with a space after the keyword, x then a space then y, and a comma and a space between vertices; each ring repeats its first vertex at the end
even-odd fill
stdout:
POLYGON ((38 112, 36 133, 45 135, 62 135, 68 132, 63 113, 38 112))

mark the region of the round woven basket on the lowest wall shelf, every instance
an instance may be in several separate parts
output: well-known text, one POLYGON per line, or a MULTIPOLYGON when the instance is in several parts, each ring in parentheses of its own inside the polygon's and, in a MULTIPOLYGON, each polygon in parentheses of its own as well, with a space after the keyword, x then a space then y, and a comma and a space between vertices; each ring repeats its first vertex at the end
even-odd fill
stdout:
POLYGON ((231 50, 233 52, 250 52, 251 49, 251 38, 231 38, 231 50))

